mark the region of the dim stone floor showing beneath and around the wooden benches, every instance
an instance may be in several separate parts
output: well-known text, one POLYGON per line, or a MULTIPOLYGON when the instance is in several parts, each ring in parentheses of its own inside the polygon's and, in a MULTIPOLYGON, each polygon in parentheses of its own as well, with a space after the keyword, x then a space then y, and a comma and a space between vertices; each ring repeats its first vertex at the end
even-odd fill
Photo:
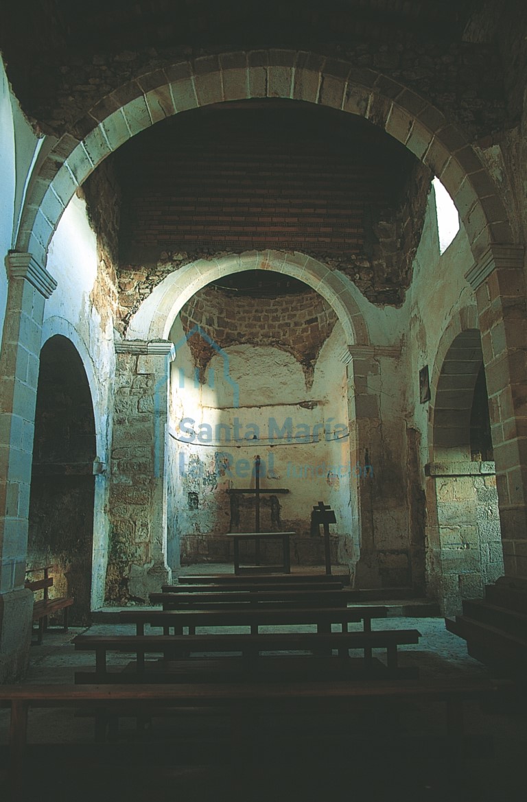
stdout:
MULTIPOLYGON (((378 620, 373 626, 383 629, 388 622, 378 620)), ((400 663, 419 666, 422 678, 454 680, 488 675, 484 666, 468 657, 464 641, 448 633, 441 618, 390 618, 389 626, 420 630, 419 646, 401 647, 400 663)), ((110 634, 133 632, 134 628, 99 623, 69 634, 50 632, 43 646, 32 647, 30 670, 23 682, 72 683, 75 670, 93 666, 93 655, 75 652, 71 644, 80 631, 110 634)), ((112 656, 111 664, 124 665, 130 659, 131 655, 117 654, 112 656)), ((93 742, 92 719, 77 718, 74 711, 68 710, 35 710, 30 712, 30 742, 42 746, 30 751, 30 770, 25 778, 27 799, 524 800, 525 715, 510 710, 491 714, 481 711, 475 703, 468 703, 466 711, 466 730, 473 743, 469 744, 472 751, 462 760, 443 735, 444 711, 440 705, 409 705, 399 722, 387 719, 382 725, 379 720, 374 723, 366 719, 364 714, 262 716, 250 786, 241 791, 237 788, 236 796, 230 768, 229 723, 221 715, 154 719, 141 738, 134 721, 123 719, 119 740, 101 745, 93 742), (481 743, 478 739, 482 739, 481 743)), ((4 710, 0 711, 0 783, 8 759, 7 732, 8 714, 4 710)))

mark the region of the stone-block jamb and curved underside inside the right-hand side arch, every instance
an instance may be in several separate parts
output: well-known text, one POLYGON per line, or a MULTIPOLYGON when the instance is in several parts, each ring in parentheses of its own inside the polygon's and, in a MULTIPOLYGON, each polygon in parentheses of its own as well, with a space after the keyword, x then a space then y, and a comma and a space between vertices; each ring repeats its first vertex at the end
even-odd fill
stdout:
POLYGON ((472 461, 471 412, 484 365, 476 306, 452 318, 432 374, 432 414, 425 467, 428 585, 444 615, 503 574, 500 513, 493 463, 472 461))

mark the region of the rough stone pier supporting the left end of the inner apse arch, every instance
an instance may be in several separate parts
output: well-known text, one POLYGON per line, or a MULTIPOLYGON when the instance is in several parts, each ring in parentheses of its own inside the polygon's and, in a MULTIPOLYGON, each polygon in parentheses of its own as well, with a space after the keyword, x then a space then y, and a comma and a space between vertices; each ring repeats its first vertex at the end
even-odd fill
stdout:
POLYGON ((132 340, 117 342, 116 354, 107 597, 148 601, 171 580, 166 438, 175 352, 166 340, 132 340))

